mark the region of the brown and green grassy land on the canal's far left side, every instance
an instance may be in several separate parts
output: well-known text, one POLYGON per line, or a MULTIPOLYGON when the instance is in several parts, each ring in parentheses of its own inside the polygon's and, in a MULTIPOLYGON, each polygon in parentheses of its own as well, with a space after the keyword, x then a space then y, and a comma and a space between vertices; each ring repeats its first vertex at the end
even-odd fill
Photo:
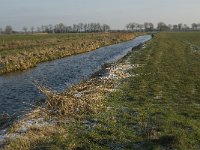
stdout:
POLYGON ((133 39, 133 33, 71 33, 0 36, 0 74, 133 39))

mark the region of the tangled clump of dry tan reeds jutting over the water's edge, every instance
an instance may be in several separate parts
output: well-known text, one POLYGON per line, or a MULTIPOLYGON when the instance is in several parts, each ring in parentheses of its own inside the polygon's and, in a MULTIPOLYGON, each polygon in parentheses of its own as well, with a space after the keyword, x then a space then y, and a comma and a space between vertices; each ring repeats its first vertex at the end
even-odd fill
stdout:
POLYGON ((108 92, 110 85, 95 86, 100 80, 91 79, 73 86, 68 91, 58 94, 44 87, 39 89, 46 95, 45 110, 49 116, 61 118, 79 118, 82 114, 97 113, 102 109, 103 94, 108 92))

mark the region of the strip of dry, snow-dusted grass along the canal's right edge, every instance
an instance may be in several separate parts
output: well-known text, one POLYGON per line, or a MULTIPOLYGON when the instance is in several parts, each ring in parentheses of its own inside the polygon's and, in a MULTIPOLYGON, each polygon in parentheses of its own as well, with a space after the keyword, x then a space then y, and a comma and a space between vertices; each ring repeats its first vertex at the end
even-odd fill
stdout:
MULTIPOLYGON (((141 43, 137 43, 134 48, 129 48, 128 52, 140 46, 141 43)), ((123 57, 126 55, 127 53, 123 57)), ((57 129, 57 125, 63 123, 63 120, 58 120, 58 118, 67 116, 65 121, 68 122, 69 120, 78 119, 84 113, 97 113, 99 109, 104 108, 103 97, 106 93, 114 90, 114 84, 130 76, 127 70, 139 67, 138 64, 128 64, 128 61, 124 61, 125 58, 127 59, 127 56, 124 59, 115 59, 117 63, 103 65, 103 68, 95 74, 93 73, 90 79, 72 86, 63 93, 56 94, 43 86, 38 87, 47 97, 45 108, 42 106, 34 109, 26 114, 23 119, 12 125, 12 128, 8 131, 2 130, 1 141, 21 138, 22 135, 32 132, 32 128, 35 127, 39 130, 41 128, 50 129, 50 131, 47 131, 50 132, 49 134, 57 131, 61 132, 57 129)))

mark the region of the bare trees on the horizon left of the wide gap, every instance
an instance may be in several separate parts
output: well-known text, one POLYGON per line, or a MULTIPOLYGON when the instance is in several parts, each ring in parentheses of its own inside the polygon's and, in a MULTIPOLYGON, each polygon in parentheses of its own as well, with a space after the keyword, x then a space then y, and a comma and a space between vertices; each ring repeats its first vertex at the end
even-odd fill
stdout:
MULTIPOLYGON (((107 24, 100 23, 79 23, 73 24, 72 26, 66 26, 63 23, 59 23, 56 25, 42 25, 40 27, 23 27, 23 33, 77 33, 77 32, 108 32, 110 30, 110 26, 107 24)), ((7 25, 3 30, 0 28, 0 33, 11 34, 15 33, 12 26, 7 25)))

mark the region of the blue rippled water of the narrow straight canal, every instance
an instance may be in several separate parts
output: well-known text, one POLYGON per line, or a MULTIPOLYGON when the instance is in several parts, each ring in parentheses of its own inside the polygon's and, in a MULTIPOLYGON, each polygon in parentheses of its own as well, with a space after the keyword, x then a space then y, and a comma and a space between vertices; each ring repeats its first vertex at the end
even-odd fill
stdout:
POLYGON ((105 63, 125 56, 132 47, 151 38, 139 36, 134 40, 99 48, 84 54, 39 64, 36 68, 0 76, 0 114, 17 115, 32 109, 32 105, 45 99, 35 82, 55 92, 65 89, 98 71, 105 63))

